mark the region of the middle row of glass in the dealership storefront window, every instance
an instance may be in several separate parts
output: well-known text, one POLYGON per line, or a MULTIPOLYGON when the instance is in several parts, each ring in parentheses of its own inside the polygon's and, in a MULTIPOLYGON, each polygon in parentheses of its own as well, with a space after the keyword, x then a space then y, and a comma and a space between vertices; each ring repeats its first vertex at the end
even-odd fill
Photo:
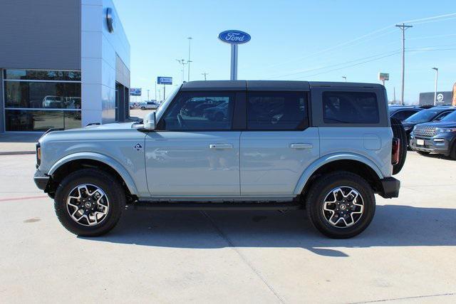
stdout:
POLYGON ((81 83, 5 81, 5 108, 81 109, 81 83))

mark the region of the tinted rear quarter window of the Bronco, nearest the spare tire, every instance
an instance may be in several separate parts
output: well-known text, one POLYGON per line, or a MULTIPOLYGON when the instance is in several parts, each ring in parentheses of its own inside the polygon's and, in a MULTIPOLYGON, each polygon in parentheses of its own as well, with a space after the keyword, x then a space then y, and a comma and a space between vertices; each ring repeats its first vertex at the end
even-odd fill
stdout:
POLYGON ((377 124, 378 100, 369 92, 323 92, 323 122, 326 124, 377 124))

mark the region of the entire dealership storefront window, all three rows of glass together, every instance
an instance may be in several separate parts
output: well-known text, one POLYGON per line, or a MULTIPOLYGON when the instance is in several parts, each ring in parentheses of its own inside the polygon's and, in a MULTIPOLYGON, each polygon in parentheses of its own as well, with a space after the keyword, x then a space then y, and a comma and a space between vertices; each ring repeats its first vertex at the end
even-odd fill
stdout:
POLYGON ((81 72, 6 69, 3 84, 6 131, 81 127, 81 72))

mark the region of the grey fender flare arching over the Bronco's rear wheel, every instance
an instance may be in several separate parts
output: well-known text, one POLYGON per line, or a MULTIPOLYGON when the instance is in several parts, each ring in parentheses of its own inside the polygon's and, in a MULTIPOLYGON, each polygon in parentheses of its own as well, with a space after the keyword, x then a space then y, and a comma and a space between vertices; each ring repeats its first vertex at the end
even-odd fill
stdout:
POLYGON ((316 170, 318 170, 318 168, 330 162, 335 162, 337 160, 355 160, 358 162, 362 162, 363 164, 366 164, 369 167, 371 167, 371 169, 373 169, 373 171, 375 171, 375 173, 378 175, 379 179, 383 179, 383 174, 378 168, 378 166, 367 157, 363 157, 360 154, 354 153, 328 154, 317 159, 309 167, 307 167, 306 170, 304 170, 303 174, 301 174, 301 178, 299 178, 298 184, 296 184, 296 187, 294 188, 294 195, 299 195, 302 193, 304 187, 306 186, 306 183, 309 181, 309 178, 312 176, 312 174, 314 174, 314 172, 316 172, 316 170))

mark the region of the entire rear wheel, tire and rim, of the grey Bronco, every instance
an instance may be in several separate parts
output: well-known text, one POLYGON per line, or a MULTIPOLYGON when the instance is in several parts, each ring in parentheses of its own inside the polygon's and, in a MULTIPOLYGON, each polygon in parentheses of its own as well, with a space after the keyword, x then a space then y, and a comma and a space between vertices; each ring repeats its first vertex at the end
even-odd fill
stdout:
POLYGON ((333 239, 348 239, 366 229, 375 214, 373 189, 351 172, 334 172, 316 179, 306 196, 311 223, 333 239))

